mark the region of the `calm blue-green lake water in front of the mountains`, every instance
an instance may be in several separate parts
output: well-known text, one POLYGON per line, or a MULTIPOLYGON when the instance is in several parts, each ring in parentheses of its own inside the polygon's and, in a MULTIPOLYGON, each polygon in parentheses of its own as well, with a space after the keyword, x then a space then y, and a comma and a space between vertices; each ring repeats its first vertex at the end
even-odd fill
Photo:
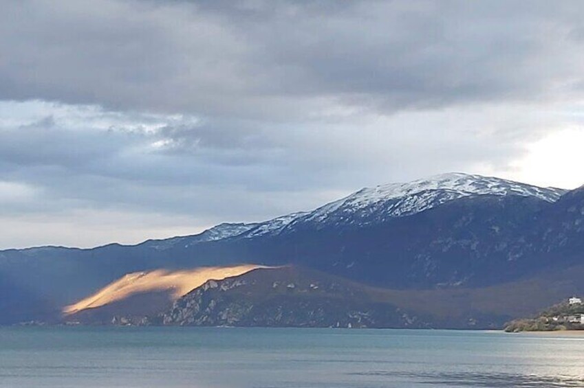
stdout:
POLYGON ((584 387, 584 336, 0 328, 0 387, 584 387))

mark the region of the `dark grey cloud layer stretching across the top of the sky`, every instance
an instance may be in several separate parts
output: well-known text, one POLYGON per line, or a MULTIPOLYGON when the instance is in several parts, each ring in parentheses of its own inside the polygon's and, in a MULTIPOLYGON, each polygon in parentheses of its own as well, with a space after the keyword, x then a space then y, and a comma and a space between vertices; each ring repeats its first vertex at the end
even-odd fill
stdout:
POLYGON ((1 97, 299 117, 533 100, 581 82, 577 2, 8 1, 1 97))

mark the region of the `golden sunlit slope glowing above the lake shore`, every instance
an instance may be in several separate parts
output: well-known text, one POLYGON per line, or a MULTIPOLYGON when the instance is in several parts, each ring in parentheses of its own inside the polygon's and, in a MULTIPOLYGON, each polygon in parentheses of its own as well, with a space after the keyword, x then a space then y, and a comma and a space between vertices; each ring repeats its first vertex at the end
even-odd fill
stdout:
POLYGON ((170 290, 171 297, 178 299, 208 280, 222 280, 226 277, 239 276, 258 268, 266 267, 244 264, 226 267, 200 267, 183 271, 158 269, 149 272, 129 273, 98 290, 94 295, 82 299, 76 304, 65 306, 63 313, 70 315, 87 308, 105 306, 132 295, 152 291, 170 290))

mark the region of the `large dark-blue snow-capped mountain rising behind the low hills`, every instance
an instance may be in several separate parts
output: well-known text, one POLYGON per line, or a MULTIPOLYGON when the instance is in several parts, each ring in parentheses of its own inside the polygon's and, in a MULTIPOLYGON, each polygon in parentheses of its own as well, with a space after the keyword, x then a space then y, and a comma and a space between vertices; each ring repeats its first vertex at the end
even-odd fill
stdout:
MULTIPOLYGON (((294 264, 394 290, 485 288, 581 262, 583 218, 582 189, 444 174, 193 236, 133 246, 0 251, 0 279, 28 300, 60 307, 129 273, 241 263, 294 264)), ((40 309, 29 312, 35 311, 40 309)), ((10 314, 0 312, 4 321, 10 314)))

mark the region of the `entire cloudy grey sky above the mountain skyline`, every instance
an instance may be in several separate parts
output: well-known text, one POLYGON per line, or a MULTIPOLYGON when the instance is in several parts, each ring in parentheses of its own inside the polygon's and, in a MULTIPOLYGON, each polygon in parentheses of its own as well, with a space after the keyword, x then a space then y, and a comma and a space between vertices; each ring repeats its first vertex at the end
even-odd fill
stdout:
POLYGON ((580 1, 0 1, 0 249, 584 184, 580 1))

